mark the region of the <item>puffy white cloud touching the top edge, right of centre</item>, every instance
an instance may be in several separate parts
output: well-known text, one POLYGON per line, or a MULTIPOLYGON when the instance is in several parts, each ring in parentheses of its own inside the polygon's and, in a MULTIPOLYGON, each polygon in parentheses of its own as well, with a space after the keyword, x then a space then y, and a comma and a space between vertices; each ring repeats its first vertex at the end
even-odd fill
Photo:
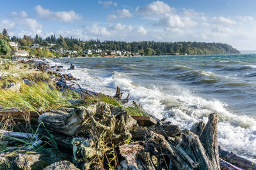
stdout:
POLYGON ((137 7, 136 12, 140 15, 163 15, 175 12, 175 9, 162 1, 154 1, 146 6, 137 7))

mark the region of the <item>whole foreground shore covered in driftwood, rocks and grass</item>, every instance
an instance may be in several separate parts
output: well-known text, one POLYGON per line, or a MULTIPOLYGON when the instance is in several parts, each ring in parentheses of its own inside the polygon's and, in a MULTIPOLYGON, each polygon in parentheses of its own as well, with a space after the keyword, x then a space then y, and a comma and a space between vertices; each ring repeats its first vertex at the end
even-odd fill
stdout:
POLYGON ((256 169, 218 146, 216 113, 180 129, 119 87, 106 96, 61 66, 0 62, 0 169, 256 169))

